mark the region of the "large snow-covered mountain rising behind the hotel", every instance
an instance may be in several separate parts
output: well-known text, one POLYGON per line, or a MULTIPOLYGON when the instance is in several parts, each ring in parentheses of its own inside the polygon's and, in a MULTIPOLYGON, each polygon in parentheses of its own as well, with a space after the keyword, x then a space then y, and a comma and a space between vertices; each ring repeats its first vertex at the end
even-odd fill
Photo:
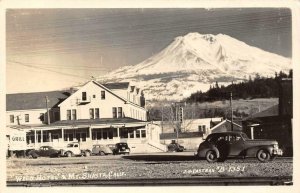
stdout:
POLYGON ((147 99, 180 100, 212 83, 227 85, 257 73, 274 76, 291 69, 291 60, 255 48, 224 34, 189 33, 145 61, 119 68, 101 82, 130 81, 147 99))

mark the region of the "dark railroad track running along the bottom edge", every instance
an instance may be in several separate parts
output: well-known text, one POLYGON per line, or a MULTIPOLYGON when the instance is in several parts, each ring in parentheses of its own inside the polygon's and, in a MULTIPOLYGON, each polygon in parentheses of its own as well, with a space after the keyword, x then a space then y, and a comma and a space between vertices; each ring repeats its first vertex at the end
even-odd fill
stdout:
POLYGON ((234 186, 234 185, 292 185, 292 176, 280 177, 192 177, 109 180, 8 181, 9 187, 49 186, 234 186))

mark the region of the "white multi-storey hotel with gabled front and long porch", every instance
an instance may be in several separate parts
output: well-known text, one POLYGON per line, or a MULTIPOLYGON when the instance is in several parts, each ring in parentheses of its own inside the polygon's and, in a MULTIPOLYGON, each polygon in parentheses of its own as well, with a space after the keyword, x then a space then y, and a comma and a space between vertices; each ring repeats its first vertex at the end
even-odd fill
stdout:
POLYGON ((6 125, 26 131, 28 148, 127 142, 133 153, 166 151, 161 128, 147 122, 143 91, 128 82, 90 81, 76 91, 7 94, 6 125))

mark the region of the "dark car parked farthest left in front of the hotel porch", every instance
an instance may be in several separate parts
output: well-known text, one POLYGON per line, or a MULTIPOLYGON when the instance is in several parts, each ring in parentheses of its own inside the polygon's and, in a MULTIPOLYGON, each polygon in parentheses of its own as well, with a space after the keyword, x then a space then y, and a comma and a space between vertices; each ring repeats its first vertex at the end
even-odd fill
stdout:
POLYGON ((39 149, 29 150, 27 156, 35 159, 38 157, 59 157, 60 150, 54 149, 51 146, 41 146, 39 149))

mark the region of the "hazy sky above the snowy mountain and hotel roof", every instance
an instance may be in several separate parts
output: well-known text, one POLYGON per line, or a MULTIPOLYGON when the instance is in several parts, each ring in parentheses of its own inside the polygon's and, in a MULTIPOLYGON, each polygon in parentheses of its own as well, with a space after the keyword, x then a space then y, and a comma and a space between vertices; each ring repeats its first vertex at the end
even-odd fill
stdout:
POLYGON ((8 9, 6 92, 68 88, 138 64, 190 32, 291 58, 289 9, 8 9))

